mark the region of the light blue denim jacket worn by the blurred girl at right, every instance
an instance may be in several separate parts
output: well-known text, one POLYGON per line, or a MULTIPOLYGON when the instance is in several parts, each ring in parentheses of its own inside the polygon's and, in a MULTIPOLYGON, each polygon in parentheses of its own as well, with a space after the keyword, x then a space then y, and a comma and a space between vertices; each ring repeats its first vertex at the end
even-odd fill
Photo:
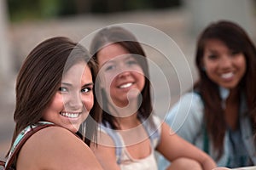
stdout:
MULTIPOLYGON (((220 94, 223 100, 225 100, 229 94, 224 88, 220 88, 220 94)), ((172 110, 166 116, 166 123, 183 139, 186 139, 191 144, 195 144, 196 147, 204 150, 206 147, 205 130, 203 127, 203 101, 201 96, 195 92, 184 94, 183 97, 172 107, 172 110)), ((244 113, 247 111, 246 100, 241 99, 239 121, 241 138, 244 146, 247 150, 253 164, 256 165, 256 150, 253 143, 253 130, 252 123, 248 116, 244 113)), ((213 151, 212 142, 207 141, 209 148, 207 154, 212 156, 218 164, 218 167, 226 167, 231 156, 231 150, 229 147, 230 138, 229 130, 226 130, 224 135, 224 154, 217 161, 217 153, 213 151)), ((159 169, 166 169, 169 165, 163 156, 159 156, 158 166, 159 169)))

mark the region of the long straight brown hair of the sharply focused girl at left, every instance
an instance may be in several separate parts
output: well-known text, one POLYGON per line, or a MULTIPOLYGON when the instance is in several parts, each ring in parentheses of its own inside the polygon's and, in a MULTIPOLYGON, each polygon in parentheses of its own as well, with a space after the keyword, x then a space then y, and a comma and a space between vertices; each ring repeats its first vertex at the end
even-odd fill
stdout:
MULTIPOLYGON (((67 37, 51 37, 32 49, 16 79, 15 132, 12 144, 21 130, 42 121, 43 112, 58 90, 63 74, 79 61, 89 66, 95 82, 97 65, 94 59, 90 59, 86 48, 79 43, 67 37)), ((90 111, 93 120, 86 119, 85 124, 89 128, 86 128, 86 134, 82 134, 86 137, 86 144, 90 144, 90 139, 95 139, 95 122, 100 120, 97 108, 95 99, 95 105, 90 111)))

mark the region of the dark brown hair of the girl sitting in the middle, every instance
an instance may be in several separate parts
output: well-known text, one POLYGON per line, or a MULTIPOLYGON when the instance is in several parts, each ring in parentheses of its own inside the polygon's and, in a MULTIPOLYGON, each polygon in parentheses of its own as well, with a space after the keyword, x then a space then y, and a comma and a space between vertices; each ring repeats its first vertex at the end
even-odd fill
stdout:
MULTIPOLYGON (((134 57, 137 59, 139 65, 143 68, 143 73, 145 75, 145 86, 142 91, 143 101, 140 105, 138 112, 139 116, 143 118, 149 118, 150 114, 152 113, 152 104, 151 104, 151 96, 150 96, 150 82, 149 72, 148 72, 148 62, 146 59, 146 55, 143 51, 141 44, 137 41, 137 38, 130 32, 125 30, 119 26, 112 26, 103 28, 101 31, 96 33, 96 36, 93 38, 91 45, 90 45, 90 53, 93 54, 93 58, 97 61, 97 53, 106 45, 111 43, 118 43, 123 48, 125 48, 130 54, 137 54, 140 57, 134 57)), ((108 122, 113 129, 118 128, 116 126, 116 122, 113 116, 108 114, 108 99, 102 89, 102 102, 103 103, 103 111, 102 111, 102 122, 108 122)), ((150 119, 149 119, 150 121, 150 119)), ((151 122, 151 121, 150 121, 151 122)))

